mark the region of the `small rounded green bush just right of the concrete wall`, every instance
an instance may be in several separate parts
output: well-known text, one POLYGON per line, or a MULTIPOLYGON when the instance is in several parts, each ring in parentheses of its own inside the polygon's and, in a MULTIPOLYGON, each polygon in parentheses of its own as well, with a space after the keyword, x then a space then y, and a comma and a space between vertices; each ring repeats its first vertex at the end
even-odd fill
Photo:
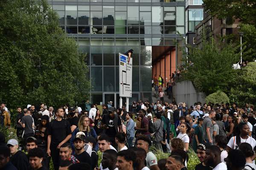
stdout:
POLYGON ((227 94, 225 94, 224 92, 216 91, 215 93, 208 95, 205 98, 205 102, 206 103, 208 103, 208 102, 211 102, 211 103, 221 103, 221 102, 229 103, 230 100, 229 100, 227 94))

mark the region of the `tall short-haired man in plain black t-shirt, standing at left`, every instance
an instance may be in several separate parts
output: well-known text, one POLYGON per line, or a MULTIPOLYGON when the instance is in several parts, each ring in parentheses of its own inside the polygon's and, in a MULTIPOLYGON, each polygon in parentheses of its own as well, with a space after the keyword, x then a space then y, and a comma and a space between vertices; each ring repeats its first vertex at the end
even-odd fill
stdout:
POLYGON ((71 128, 70 123, 66 119, 63 119, 63 108, 58 108, 55 115, 56 119, 50 122, 49 125, 47 153, 49 156, 52 156, 54 170, 58 170, 60 166, 60 147, 71 138, 71 128))

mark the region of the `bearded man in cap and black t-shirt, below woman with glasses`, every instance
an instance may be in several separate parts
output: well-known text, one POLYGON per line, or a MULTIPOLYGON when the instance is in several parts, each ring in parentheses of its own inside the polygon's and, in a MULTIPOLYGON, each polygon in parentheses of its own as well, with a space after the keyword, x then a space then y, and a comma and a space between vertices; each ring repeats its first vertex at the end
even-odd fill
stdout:
POLYGON ((84 132, 78 132, 76 133, 76 137, 74 140, 75 145, 75 157, 79 160, 79 162, 84 162, 90 164, 90 167, 92 166, 92 161, 90 155, 84 150, 84 139, 85 134, 84 132))

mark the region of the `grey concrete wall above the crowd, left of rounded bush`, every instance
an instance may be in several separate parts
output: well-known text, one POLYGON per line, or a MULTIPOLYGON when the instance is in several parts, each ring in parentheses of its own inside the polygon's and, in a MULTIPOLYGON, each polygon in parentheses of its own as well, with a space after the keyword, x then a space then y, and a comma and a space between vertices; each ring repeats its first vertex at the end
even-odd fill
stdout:
POLYGON ((172 87, 173 97, 175 97, 177 104, 185 102, 188 107, 194 105, 195 102, 204 104, 205 96, 201 92, 197 92, 191 81, 177 82, 172 87))

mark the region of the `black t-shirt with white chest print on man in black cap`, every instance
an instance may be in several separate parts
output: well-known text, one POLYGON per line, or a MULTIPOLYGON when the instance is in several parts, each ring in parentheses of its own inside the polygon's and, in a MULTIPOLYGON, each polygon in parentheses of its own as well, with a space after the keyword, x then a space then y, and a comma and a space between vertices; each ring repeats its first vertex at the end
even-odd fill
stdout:
MULTIPOLYGON (((102 118, 102 123, 108 126, 108 129, 106 129, 106 135, 108 135, 109 137, 115 137, 117 133, 114 125, 114 119, 115 118, 110 118, 109 114, 104 115, 102 118)), ((117 125, 118 126, 122 125, 122 122, 119 116, 117 116, 117 119, 118 119, 117 125)))

